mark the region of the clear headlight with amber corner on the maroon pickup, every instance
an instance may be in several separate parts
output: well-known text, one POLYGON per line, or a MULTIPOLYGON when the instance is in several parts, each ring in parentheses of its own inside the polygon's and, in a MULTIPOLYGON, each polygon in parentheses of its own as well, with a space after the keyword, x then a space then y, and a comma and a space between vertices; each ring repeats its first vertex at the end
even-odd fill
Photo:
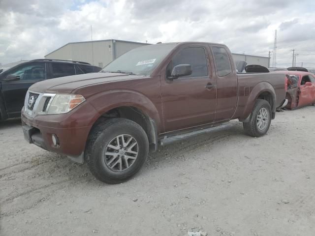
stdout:
POLYGON ((84 101, 85 98, 82 95, 56 94, 48 108, 47 115, 67 113, 84 101))

